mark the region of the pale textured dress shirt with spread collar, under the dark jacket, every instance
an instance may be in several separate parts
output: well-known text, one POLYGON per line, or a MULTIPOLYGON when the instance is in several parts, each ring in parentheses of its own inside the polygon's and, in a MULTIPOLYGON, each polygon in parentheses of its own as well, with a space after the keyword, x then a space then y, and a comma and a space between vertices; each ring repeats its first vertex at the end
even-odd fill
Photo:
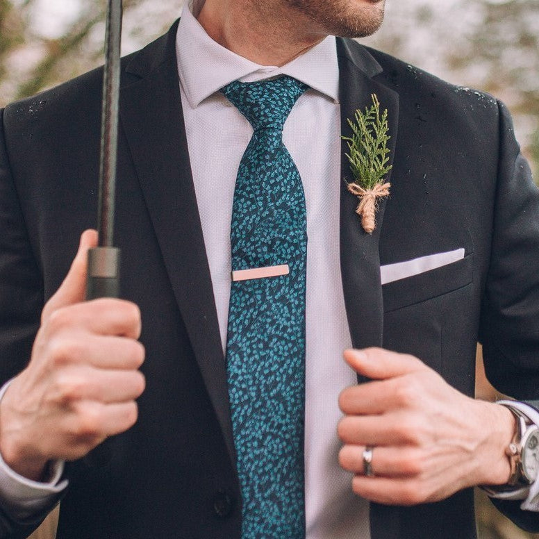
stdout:
MULTIPOLYGON (((338 395, 356 383, 356 373, 342 359, 342 351, 351 347, 351 338, 340 274, 342 179, 335 38, 326 38, 283 67, 258 65, 206 34, 195 18, 203 3, 204 0, 195 0, 193 6, 183 8, 176 54, 222 347, 226 349, 231 288, 233 192, 240 160, 253 130, 219 89, 235 80, 251 82, 289 75, 310 88, 299 97, 283 128, 283 142, 299 170, 307 209, 306 539, 369 539, 368 504, 351 492, 351 474, 338 465, 340 442, 336 427, 342 416, 338 395)), ((537 419, 539 422, 539 415, 537 419)), ((47 497, 65 488, 66 481, 58 484, 62 467, 59 463, 51 483, 35 483, 15 474, 0 456, 0 500, 10 500, 11 511, 19 518, 39 511, 47 497)), ((539 482, 531 490, 536 495, 539 482)), ((526 500, 526 508, 531 509, 533 495, 526 500)))

